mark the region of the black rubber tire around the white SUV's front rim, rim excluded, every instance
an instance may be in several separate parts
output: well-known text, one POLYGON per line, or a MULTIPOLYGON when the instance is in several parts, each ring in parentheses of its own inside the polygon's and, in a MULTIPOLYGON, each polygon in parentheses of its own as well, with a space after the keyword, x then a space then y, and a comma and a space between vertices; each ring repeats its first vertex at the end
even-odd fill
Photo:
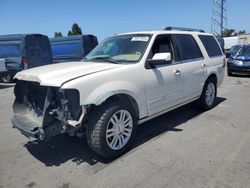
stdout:
POLYGON ((130 105, 120 101, 106 102, 99 107, 95 107, 89 117, 86 131, 88 145, 94 152, 102 157, 117 158, 126 153, 132 146, 135 140, 136 127, 137 121, 135 113, 130 105), (120 110, 126 110, 130 113, 133 120, 132 133, 124 147, 119 150, 114 150, 109 147, 106 141, 106 130, 110 118, 120 110))

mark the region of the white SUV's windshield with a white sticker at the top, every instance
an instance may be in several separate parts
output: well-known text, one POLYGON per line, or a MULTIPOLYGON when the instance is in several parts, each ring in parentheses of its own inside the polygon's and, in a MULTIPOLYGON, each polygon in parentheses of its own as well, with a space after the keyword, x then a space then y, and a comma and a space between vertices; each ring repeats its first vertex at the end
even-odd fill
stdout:
POLYGON ((95 47, 85 58, 116 62, 138 62, 150 41, 151 35, 117 35, 108 38, 95 47))

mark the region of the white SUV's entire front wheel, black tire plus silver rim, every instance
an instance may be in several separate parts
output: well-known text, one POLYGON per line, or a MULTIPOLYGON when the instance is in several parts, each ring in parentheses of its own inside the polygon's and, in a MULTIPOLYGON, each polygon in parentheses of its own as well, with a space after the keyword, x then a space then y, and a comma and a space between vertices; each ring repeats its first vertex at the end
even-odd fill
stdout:
POLYGON ((136 124, 135 113, 130 105, 120 101, 106 102, 93 109, 89 117, 86 132, 88 145, 102 157, 117 158, 132 146, 136 124), (123 123, 116 124, 121 117, 124 117, 125 126, 123 123))

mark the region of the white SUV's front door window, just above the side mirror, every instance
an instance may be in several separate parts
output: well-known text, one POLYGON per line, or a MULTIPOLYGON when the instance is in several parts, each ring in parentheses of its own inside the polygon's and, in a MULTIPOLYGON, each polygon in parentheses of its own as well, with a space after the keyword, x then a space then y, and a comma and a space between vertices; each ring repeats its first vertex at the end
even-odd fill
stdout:
POLYGON ((156 53, 164 52, 170 52, 173 56, 169 35, 159 35, 155 38, 148 58, 152 59, 156 53))

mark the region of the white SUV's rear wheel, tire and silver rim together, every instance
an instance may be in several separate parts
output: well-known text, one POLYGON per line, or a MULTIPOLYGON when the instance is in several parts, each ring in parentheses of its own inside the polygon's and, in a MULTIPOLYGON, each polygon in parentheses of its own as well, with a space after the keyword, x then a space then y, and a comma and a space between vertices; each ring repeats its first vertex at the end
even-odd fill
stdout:
POLYGON ((217 86, 214 78, 208 78, 205 82, 202 94, 199 98, 199 106, 203 110, 209 110, 214 107, 217 97, 217 86))

